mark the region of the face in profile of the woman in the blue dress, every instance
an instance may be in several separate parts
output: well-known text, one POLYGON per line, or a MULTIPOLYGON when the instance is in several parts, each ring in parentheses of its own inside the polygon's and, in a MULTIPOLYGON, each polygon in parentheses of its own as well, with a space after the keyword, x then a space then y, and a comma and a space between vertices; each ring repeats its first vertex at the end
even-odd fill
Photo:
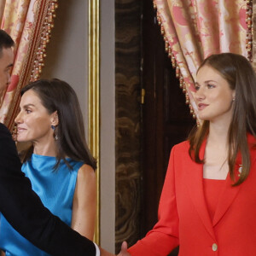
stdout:
POLYGON ((54 140, 51 125, 56 112, 49 114, 33 90, 27 90, 20 100, 20 113, 15 119, 18 142, 49 142, 54 140))

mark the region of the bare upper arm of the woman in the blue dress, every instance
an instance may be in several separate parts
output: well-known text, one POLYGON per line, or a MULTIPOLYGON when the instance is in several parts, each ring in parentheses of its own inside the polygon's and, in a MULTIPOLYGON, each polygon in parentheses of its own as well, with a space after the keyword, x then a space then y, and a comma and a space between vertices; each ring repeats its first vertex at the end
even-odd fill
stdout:
POLYGON ((88 166, 79 169, 73 196, 73 230, 90 240, 94 236, 96 218, 96 173, 88 166))

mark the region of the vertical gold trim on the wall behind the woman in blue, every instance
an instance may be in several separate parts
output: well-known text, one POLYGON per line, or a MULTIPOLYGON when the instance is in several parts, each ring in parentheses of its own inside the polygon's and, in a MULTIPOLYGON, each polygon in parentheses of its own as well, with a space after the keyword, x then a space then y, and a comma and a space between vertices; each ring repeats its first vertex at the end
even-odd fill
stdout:
POLYGON ((100 244, 100 3, 89 0, 88 145, 96 158, 97 212, 94 241, 100 244))

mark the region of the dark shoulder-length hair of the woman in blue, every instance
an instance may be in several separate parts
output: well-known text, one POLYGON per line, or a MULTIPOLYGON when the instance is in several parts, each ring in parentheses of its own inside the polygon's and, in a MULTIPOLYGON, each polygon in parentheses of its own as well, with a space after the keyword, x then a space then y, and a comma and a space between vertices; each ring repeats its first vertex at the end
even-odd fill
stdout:
MULTIPOLYGON (((69 166, 66 157, 84 161, 95 170, 96 160, 90 154, 85 140, 83 116, 73 88, 59 79, 39 79, 21 89, 20 95, 27 90, 33 90, 38 95, 49 114, 57 111, 59 124, 55 127, 55 136, 58 139, 55 140, 57 160, 54 170, 60 165, 61 160, 69 166)), ((29 148, 21 160, 28 160, 31 154, 32 148, 29 148)))

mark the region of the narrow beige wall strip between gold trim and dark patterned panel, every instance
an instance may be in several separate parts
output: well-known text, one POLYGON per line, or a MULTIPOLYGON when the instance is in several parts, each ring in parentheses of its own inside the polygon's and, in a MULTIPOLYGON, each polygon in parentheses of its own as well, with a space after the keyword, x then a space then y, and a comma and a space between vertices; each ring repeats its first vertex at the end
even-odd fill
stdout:
POLYGON ((101 242, 114 253, 115 79, 114 0, 101 2, 101 242))

